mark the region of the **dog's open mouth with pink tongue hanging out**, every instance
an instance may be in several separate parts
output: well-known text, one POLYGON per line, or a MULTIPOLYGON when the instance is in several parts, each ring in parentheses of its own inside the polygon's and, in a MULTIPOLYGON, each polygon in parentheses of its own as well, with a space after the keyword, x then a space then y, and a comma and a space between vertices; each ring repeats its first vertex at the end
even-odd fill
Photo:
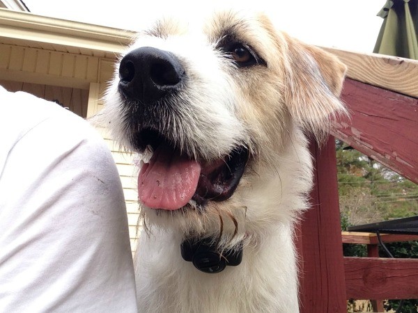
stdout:
POLYGON ((208 200, 230 198, 249 159, 248 150, 237 147, 222 159, 196 160, 157 131, 145 129, 138 137, 142 147, 153 150, 138 177, 139 200, 152 209, 176 210, 192 202, 203 207, 208 200))

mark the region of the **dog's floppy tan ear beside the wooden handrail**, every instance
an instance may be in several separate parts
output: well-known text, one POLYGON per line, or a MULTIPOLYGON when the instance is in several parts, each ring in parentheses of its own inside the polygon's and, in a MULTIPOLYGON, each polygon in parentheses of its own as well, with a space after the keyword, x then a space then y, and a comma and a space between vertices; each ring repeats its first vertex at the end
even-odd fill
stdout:
POLYGON ((297 124, 321 142, 329 131, 330 118, 347 114, 339 100, 347 67, 323 49, 285 38, 286 105, 297 124))

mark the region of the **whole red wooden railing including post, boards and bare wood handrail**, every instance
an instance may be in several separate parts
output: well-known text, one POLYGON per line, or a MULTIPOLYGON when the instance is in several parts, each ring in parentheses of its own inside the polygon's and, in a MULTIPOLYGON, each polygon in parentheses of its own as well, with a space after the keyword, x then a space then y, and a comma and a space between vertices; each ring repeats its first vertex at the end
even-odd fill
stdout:
MULTIPOLYGON (((332 52, 348 65, 341 97, 351 113, 332 134, 418 183, 418 62, 332 52)), ((334 137, 311 151, 316 186, 296 240, 300 312, 346 312, 349 298, 418 298, 418 259, 343 257, 334 137)))

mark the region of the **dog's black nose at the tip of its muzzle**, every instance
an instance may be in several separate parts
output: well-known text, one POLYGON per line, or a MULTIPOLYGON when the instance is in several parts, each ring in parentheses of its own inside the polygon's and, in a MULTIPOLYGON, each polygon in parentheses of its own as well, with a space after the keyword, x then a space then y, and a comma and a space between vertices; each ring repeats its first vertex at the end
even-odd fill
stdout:
POLYGON ((142 47, 127 54, 119 67, 119 90, 125 97, 151 104, 175 93, 185 70, 168 51, 142 47))

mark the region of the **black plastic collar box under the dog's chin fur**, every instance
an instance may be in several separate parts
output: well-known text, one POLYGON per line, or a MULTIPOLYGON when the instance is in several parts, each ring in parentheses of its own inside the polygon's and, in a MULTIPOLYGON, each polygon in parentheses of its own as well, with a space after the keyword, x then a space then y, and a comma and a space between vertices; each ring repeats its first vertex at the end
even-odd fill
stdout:
POLYGON ((242 261, 242 241, 238 249, 219 251, 219 247, 210 239, 185 240, 180 245, 180 251, 185 261, 192 262, 194 267, 204 273, 219 273, 227 265, 237 266, 242 261))

